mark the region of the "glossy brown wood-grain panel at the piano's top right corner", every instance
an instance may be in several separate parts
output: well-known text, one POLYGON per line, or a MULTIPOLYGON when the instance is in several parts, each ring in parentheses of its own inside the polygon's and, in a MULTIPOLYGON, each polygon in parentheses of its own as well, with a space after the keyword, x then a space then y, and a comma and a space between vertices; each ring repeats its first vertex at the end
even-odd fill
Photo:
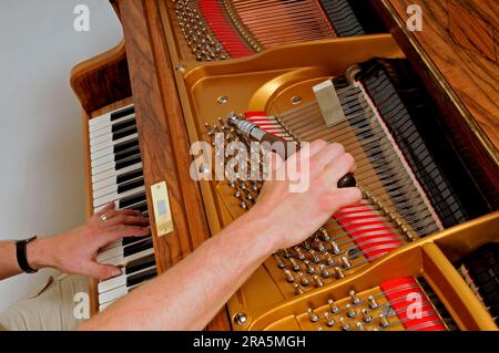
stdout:
POLYGON ((498 2, 371 1, 445 113, 441 124, 468 173, 490 208, 499 209, 499 65, 488 58, 497 55, 498 2), (410 4, 422 9, 421 32, 407 30, 410 4), (470 22, 475 25, 462 28, 470 22))

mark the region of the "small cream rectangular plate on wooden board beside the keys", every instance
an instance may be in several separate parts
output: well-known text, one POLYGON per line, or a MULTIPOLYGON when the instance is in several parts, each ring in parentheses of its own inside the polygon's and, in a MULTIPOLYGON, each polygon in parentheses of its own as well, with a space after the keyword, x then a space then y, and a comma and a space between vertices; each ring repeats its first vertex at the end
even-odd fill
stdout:
POLYGON ((157 237, 163 237, 174 230, 166 183, 161 181, 151 186, 151 195, 154 204, 154 220, 157 237))

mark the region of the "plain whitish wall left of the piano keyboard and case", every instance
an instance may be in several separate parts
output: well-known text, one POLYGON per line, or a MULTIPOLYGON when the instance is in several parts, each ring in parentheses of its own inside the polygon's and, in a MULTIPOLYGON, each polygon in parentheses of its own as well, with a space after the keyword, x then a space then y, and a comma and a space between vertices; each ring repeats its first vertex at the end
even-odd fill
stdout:
MULTIPOLYGON (((53 235, 84 220, 77 63, 114 46, 121 27, 106 0, 0 0, 0 240, 53 235), (73 29, 77 4, 90 32, 73 29)), ((50 271, 0 282, 0 312, 50 271)))

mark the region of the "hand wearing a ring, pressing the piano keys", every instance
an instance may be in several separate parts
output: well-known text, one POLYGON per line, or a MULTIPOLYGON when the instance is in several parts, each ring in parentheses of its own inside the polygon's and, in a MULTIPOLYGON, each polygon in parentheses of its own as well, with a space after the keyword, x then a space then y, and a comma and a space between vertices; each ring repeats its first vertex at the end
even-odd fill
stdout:
POLYGON ((124 237, 146 236, 147 226, 149 218, 140 211, 115 210, 112 203, 79 228, 30 242, 28 261, 33 269, 50 267, 64 273, 108 279, 121 271, 118 267, 98 263, 98 250, 124 237))

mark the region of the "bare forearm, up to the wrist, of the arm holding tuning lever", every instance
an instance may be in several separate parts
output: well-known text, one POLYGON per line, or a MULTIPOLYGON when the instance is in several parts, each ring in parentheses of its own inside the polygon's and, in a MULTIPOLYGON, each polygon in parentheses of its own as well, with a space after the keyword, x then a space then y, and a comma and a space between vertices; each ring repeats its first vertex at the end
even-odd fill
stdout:
POLYGON ((81 329, 201 330, 272 252, 264 220, 243 217, 81 329))

